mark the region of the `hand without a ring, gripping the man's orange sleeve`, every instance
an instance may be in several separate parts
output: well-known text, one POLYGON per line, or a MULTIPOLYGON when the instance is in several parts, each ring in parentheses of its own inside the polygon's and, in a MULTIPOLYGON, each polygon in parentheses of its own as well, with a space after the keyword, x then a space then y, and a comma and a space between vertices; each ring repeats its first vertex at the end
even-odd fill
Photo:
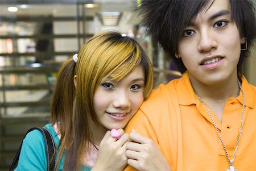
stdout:
POLYGON ((154 141, 134 130, 130 134, 126 148, 127 163, 137 170, 171 170, 166 158, 154 141))

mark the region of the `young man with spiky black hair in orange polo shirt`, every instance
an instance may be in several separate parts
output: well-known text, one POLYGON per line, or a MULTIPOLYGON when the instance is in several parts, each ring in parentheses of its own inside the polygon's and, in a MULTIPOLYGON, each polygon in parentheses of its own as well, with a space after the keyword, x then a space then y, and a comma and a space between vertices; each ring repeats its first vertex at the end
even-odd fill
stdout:
MULTIPOLYGON (((172 170, 254 170, 256 87, 240 74, 256 36, 251 2, 144 0, 140 10, 184 74, 153 90, 126 131, 158 144, 172 170)), ((128 164, 143 170, 152 142, 130 137, 128 164)))

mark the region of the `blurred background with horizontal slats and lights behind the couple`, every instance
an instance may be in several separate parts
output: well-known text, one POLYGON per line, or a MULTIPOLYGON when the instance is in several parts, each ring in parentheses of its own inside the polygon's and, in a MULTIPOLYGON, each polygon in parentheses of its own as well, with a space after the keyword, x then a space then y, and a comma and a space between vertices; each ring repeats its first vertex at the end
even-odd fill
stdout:
MULTIPOLYGON (((49 100, 59 66, 97 32, 118 30, 137 40, 154 66, 155 87, 181 76, 158 43, 145 35, 133 11, 137 3, 0 0, 0 170, 9 169, 29 128, 49 122, 49 100)), ((243 65, 243 74, 253 85, 255 66, 253 49, 243 65)))

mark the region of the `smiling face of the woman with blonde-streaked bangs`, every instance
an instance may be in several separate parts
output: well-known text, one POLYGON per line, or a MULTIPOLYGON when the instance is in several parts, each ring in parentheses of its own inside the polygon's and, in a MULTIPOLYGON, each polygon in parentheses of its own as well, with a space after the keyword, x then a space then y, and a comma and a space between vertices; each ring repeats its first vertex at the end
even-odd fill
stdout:
POLYGON ((111 75, 102 79, 93 98, 102 129, 126 126, 143 102, 144 75, 142 66, 139 66, 119 82, 112 81, 111 75))

